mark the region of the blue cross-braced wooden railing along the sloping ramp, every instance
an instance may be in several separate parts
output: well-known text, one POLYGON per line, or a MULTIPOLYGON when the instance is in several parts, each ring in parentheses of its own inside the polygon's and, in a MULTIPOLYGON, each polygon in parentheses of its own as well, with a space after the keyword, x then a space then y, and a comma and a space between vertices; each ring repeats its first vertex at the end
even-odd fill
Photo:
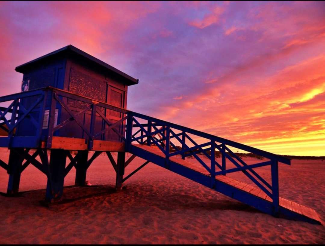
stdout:
POLYGON ((194 157, 209 172, 211 188, 215 188, 216 175, 242 172, 272 200, 275 212, 279 210, 278 162, 290 165, 290 159, 147 115, 128 112, 126 125, 126 148, 128 150, 132 148, 132 143, 145 144, 159 149, 165 158, 166 168, 169 167, 170 158, 173 156, 180 155, 182 159, 187 156, 194 157), (230 149, 231 147, 268 160, 247 164, 230 149), (216 161, 215 150, 221 153, 220 163, 216 161), (205 163, 202 156, 207 157, 210 163, 205 163), (235 168, 227 168, 226 159, 233 163, 235 168), (268 165, 271 166, 271 184, 254 170, 268 165))

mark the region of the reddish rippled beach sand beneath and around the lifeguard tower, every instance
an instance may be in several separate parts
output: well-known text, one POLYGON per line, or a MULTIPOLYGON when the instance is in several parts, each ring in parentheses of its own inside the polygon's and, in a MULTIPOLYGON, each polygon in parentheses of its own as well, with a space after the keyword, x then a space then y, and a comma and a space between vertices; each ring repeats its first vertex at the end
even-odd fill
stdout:
MULTIPOLYGON (((0 149, 0 159, 7 158, 7 150, 0 149)), ((126 174, 143 162, 136 158, 126 174)), ((256 171, 270 173, 269 167, 256 171)), ((74 175, 73 168, 65 186, 74 184, 74 175)), ((241 173, 229 176, 248 182, 241 173)), ((280 196, 315 209, 324 221, 324 176, 325 160, 280 164, 280 196)), ((8 175, 2 168, 0 180, 0 191, 6 192, 8 175)), ((33 191, 0 196, 0 243, 325 243, 324 226, 263 214, 152 163, 128 179, 126 189, 113 192, 115 172, 101 155, 87 180, 93 186, 66 187, 66 203, 44 207, 39 201, 46 177, 28 166, 20 190, 33 191)))

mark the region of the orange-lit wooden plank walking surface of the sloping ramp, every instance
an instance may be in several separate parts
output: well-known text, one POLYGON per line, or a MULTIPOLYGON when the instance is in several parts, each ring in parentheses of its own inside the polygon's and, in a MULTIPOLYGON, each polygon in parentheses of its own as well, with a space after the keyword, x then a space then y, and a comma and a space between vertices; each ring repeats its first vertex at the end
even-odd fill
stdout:
MULTIPOLYGON (((152 147, 152 146, 148 146, 148 145, 140 145, 140 144, 133 144, 133 146, 164 158, 163 153, 156 147, 152 147)), ((199 174, 211 177, 211 174, 203 166, 196 165, 192 162, 183 160, 180 158, 180 156, 171 157, 170 161, 175 162, 179 165, 182 165, 182 166, 184 166, 188 169, 191 169, 195 172, 198 172, 199 174)), ((256 188, 252 185, 246 184, 244 182, 240 182, 239 180, 227 177, 225 175, 218 175, 215 177, 215 179, 219 182, 227 184, 228 186, 231 186, 231 187, 236 188, 240 191, 243 191, 249 195, 258 197, 258 198, 263 199, 270 203, 272 202, 272 198, 267 196, 266 193, 264 191, 262 191, 260 188, 256 188)), ((279 205, 282 210, 284 210, 284 209, 289 210, 293 213, 297 213, 297 214, 300 214, 300 215, 306 217, 306 219, 311 219, 311 220, 315 221, 315 223, 322 224, 322 221, 321 221, 319 215, 317 214, 317 212, 314 209, 308 208, 304 205, 298 204, 294 201, 284 199, 282 197, 279 197, 279 205)))

